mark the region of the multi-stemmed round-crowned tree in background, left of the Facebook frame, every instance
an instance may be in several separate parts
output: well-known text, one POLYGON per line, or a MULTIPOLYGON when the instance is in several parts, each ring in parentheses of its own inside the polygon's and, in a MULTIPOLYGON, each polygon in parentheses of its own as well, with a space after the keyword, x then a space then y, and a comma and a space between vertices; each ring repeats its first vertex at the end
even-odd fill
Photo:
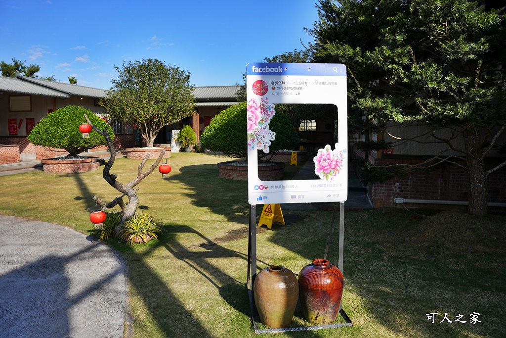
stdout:
POLYGON ((156 59, 129 62, 101 103, 113 120, 137 124, 148 147, 163 126, 193 114, 195 99, 190 73, 156 59))

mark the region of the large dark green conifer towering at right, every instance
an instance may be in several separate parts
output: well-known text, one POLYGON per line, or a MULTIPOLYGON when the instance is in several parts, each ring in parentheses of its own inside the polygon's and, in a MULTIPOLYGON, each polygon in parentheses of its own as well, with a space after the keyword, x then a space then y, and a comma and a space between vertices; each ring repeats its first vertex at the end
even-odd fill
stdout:
POLYGON ((403 141, 444 145, 427 165, 461 154, 474 215, 487 213, 487 176, 506 165, 485 167, 506 129, 506 30, 484 3, 320 0, 308 30, 317 62, 346 64, 351 114, 425 126, 403 141))

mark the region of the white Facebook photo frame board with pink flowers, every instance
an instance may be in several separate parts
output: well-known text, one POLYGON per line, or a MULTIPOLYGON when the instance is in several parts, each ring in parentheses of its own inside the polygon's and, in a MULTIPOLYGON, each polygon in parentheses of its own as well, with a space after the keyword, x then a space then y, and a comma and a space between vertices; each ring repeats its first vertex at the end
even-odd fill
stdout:
POLYGON ((248 63, 246 95, 249 204, 346 201, 348 131, 345 65, 248 63), (275 105, 279 103, 332 103, 338 107, 338 142, 325 145, 312 159, 315 179, 263 181, 258 177, 257 152, 269 153, 271 141, 276 138, 269 129, 269 122, 276 114, 275 105))

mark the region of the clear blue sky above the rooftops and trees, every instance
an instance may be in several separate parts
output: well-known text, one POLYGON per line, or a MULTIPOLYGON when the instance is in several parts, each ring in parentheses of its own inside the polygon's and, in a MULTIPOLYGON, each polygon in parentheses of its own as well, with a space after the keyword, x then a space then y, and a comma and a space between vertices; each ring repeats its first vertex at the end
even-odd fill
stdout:
POLYGON ((0 0, 0 60, 102 89, 114 66, 147 58, 189 71, 195 86, 242 84, 246 63, 313 41, 315 2, 0 0))

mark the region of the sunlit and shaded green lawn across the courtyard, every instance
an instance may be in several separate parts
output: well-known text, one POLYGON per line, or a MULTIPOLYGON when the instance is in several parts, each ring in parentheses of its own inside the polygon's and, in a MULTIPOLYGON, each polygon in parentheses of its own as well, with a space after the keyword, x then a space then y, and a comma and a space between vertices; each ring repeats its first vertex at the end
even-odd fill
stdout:
MULTIPOLYGON (((228 158, 176 153, 169 178, 157 171, 138 192, 163 233, 148 244, 109 244, 129 267, 134 337, 255 336, 245 287, 248 204, 246 182, 218 177, 228 158)), ((153 161, 146 164, 148 168, 153 161)), ((120 182, 140 161, 118 159, 120 182)), ((299 167, 287 166, 287 177, 299 167)), ((0 213, 55 222, 88 233, 93 196, 119 196, 87 173, 30 172, 0 177, 0 213)), ((260 206, 257 214, 260 214, 260 206)), ((347 211, 343 307, 352 327, 270 334, 269 337, 501 337, 506 336, 506 216, 474 218, 457 211, 347 211), (427 313, 435 313, 435 323, 427 313), (480 313, 481 322, 470 323, 480 313), (447 313, 452 323, 440 321, 447 313), (462 314, 461 320, 455 321, 462 314)), ((257 234, 259 269, 283 265, 294 273, 323 256, 331 211, 283 210, 286 226, 257 234)), ((337 265, 339 233, 329 260, 337 265)), ((61 243, 65 245, 65 243, 61 243)), ((305 325, 296 310, 292 325, 305 325)))

